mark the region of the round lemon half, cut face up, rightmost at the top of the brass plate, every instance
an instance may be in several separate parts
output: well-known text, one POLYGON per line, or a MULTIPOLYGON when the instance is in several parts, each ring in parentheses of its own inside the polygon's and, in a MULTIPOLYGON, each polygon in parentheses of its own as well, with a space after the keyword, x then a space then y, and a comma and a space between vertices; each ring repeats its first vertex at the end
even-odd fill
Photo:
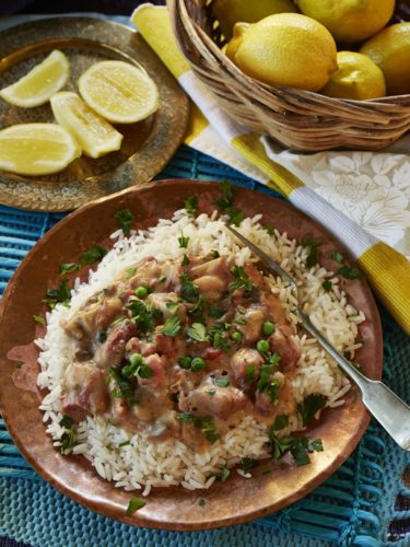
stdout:
POLYGON ((104 118, 133 124, 159 107, 159 92, 145 70, 124 61, 102 61, 79 80, 83 100, 104 118))

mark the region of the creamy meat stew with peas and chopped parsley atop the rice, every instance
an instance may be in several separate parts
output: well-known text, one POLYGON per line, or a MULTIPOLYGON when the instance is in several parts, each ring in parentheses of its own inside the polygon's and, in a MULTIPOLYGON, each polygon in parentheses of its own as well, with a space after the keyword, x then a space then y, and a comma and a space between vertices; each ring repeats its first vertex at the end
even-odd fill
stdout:
POLYGON ((147 258, 63 328, 74 358, 62 406, 75 421, 103 415, 201 451, 244 415, 271 423, 295 411, 294 329, 250 263, 147 258))

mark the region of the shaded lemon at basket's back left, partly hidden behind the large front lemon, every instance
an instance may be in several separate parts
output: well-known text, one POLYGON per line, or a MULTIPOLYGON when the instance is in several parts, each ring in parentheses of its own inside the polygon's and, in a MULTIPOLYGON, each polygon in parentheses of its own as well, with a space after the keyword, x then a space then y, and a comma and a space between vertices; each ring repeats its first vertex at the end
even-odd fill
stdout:
POLYGON ((256 23, 268 15, 283 12, 297 12, 292 0, 214 0, 212 2, 214 16, 221 24, 226 39, 231 39, 235 23, 256 23))

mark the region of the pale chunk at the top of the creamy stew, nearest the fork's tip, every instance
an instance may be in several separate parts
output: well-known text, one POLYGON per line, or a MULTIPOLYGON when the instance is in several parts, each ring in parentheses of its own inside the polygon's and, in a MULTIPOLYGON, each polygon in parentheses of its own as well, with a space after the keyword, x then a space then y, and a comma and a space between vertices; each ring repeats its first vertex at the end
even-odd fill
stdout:
POLYGON ((232 280, 225 257, 194 266, 190 269, 190 277, 199 292, 211 302, 223 295, 232 280))

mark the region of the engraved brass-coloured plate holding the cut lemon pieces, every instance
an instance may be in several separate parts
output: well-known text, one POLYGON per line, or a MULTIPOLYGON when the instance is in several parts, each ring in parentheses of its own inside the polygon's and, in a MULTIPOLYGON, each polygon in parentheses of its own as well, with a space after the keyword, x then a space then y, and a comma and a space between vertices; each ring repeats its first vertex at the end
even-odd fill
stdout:
MULTIPOLYGON (((97 19, 58 18, 0 34, 0 89, 27 73, 52 49, 68 57, 71 78, 65 89, 75 92, 79 77, 97 61, 142 65, 159 88, 160 108, 141 123, 116 126, 124 135, 118 152, 96 160, 82 155, 60 173, 42 177, 0 171, 0 201, 21 209, 67 211, 150 181, 174 154, 188 121, 188 100, 174 77, 131 28, 97 19)), ((0 98, 0 129, 33 121, 54 121, 49 103, 20 108, 0 98)))

